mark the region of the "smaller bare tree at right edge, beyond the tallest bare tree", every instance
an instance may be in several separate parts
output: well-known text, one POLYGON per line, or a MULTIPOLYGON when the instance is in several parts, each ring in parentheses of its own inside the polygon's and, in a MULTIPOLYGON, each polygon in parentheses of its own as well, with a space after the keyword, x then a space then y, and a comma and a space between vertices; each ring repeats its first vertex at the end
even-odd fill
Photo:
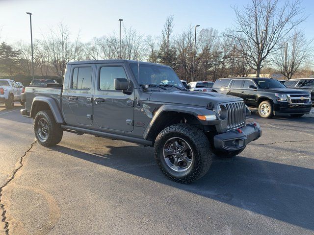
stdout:
POLYGON ((274 62, 285 79, 291 79, 294 73, 313 58, 313 42, 313 39, 307 40, 304 33, 299 30, 295 30, 287 40, 282 42, 282 47, 275 55, 274 62))

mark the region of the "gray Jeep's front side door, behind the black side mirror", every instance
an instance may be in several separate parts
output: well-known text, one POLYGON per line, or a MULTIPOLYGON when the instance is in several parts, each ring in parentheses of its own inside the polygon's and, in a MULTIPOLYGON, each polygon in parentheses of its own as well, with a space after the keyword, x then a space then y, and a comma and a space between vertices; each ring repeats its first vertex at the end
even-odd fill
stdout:
MULTIPOLYGON (((133 130, 134 92, 124 94, 114 89, 115 78, 128 78, 121 65, 99 64, 94 88, 94 125, 100 130, 131 132, 133 130)), ((130 81, 130 78, 128 78, 130 81)), ((131 84, 131 83, 130 83, 131 84)))

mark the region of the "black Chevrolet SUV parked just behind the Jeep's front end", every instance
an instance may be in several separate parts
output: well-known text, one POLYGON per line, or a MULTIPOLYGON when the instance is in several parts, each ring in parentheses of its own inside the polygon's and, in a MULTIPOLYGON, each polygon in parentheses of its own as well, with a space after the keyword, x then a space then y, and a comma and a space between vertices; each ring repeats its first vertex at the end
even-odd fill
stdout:
POLYGON ((288 89, 272 78, 220 78, 215 81, 212 91, 243 98, 247 106, 258 108, 262 118, 274 115, 302 117, 312 108, 309 92, 288 89))

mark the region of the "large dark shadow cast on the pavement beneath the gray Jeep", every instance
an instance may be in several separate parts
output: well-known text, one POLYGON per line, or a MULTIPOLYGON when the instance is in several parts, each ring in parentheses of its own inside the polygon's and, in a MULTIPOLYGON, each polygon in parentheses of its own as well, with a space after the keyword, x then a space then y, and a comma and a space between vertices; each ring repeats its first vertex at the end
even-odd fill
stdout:
POLYGON ((155 163, 153 148, 106 147, 109 154, 89 154, 63 146, 51 149, 314 230, 313 169, 240 156, 215 158, 201 180, 182 185, 162 175, 155 163))

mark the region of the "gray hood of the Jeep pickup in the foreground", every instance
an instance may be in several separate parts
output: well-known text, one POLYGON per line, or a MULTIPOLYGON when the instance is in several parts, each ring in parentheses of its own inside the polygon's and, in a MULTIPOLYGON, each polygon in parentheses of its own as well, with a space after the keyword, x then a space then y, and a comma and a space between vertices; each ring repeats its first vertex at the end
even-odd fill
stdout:
POLYGON ((159 91, 153 92, 150 101, 162 103, 177 103, 207 107, 212 102, 214 107, 218 103, 241 101, 243 99, 231 95, 219 94, 216 92, 190 92, 190 91, 159 91))

